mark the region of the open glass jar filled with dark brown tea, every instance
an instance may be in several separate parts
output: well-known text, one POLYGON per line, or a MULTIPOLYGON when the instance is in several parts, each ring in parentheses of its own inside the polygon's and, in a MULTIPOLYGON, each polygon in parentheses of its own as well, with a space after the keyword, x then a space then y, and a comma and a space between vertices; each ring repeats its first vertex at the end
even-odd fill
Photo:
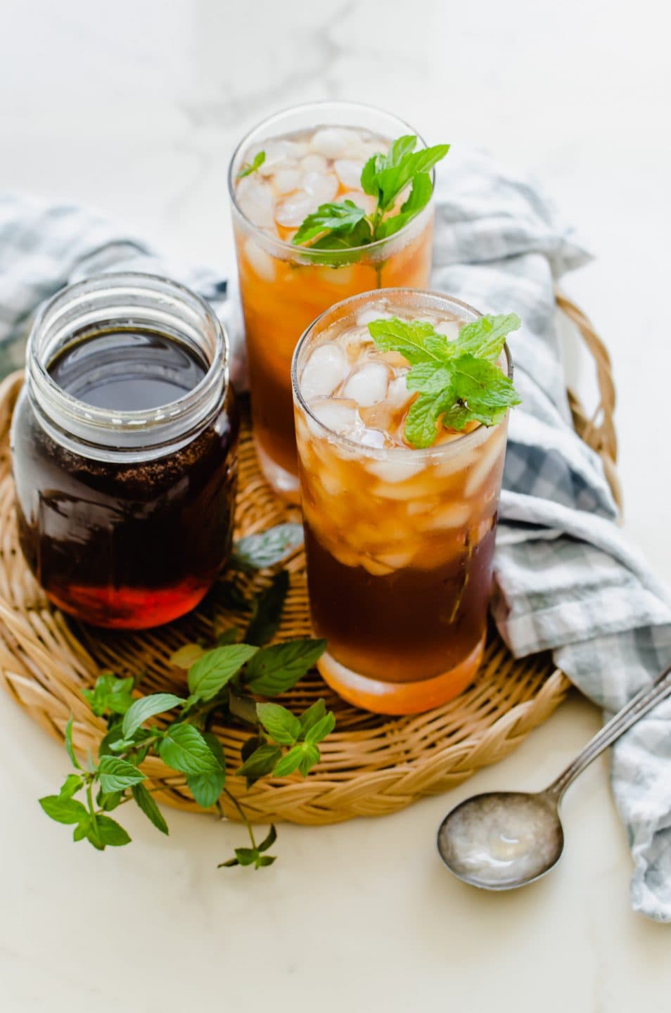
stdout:
POLYGON ((226 336, 198 296, 139 274, 55 296, 11 432, 20 545, 51 601, 131 629, 198 605, 231 544, 237 441, 226 336))

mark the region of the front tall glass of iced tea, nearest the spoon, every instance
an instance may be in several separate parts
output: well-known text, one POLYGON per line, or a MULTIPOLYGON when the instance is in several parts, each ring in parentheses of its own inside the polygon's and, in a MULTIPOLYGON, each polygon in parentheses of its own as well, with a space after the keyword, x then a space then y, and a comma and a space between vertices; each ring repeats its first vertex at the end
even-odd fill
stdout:
MULTIPOLYGON (((328 641, 319 670, 346 700, 407 714, 463 690, 482 657, 507 407, 497 424, 442 425, 432 446, 411 446, 403 426, 424 395, 407 389, 408 359, 373 340, 384 319, 431 324, 447 343, 494 318, 438 294, 369 292, 315 320, 293 359, 310 608, 328 641)), ((486 366, 514 392, 504 340, 486 366)))

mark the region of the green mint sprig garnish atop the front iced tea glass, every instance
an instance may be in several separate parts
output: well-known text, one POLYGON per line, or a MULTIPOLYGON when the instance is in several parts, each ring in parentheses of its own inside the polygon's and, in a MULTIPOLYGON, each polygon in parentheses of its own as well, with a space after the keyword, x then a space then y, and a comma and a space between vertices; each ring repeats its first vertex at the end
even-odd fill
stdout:
POLYGON ((405 418, 411 446, 431 447, 439 424, 457 432, 470 421, 497 425, 520 403, 512 381, 496 365, 506 337, 520 325, 516 313, 483 316, 450 341, 423 320, 392 317, 368 324, 378 348, 400 353, 412 366, 405 385, 419 397, 405 418))

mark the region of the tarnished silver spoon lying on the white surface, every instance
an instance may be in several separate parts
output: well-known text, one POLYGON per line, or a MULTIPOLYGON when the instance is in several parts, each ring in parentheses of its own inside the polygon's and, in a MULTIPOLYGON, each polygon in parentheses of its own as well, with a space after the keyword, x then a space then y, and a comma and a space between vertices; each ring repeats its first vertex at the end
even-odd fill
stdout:
POLYGON ((524 886, 549 872, 564 849, 560 802, 569 785, 669 694, 671 666, 604 724, 544 791, 488 791, 457 805, 438 831, 438 851, 448 869, 472 886, 497 890, 524 886))

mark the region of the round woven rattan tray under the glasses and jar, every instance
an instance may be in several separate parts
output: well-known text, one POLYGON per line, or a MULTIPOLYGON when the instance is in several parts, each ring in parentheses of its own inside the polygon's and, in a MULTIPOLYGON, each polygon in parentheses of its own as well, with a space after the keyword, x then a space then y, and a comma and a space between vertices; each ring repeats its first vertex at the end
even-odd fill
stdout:
MULTIPOLYGON (((614 474, 615 437, 612 427, 614 391, 608 355, 584 315, 563 297, 557 303, 573 318, 592 352, 601 390, 599 424, 586 418, 572 399, 578 433, 604 459, 617 495, 614 474)), ((92 685, 100 669, 119 675, 143 674, 145 692, 183 689, 182 674, 169 664, 182 643, 207 636, 213 624, 233 621, 215 588, 205 608, 161 629, 122 634, 93 630, 66 619, 49 604, 28 571, 17 546, 10 474, 8 434, 21 376, 0 386, 0 681, 16 702, 51 734, 63 738, 74 715, 77 751, 95 753, 103 723, 85 704, 81 690, 92 685)), ((238 535, 263 531, 283 520, 296 519, 264 481, 254 457, 248 423, 240 449, 238 535)), ((302 552, 289 561, 291 587, 279 638, 309 631, 309 614, 302 552)), ((245 590, 262 587, 269 574, 240 577, 245 590)), ((264 780, 245 792, 240 778, 227 784, 234 795, 245 794, 252 820, 288 820, 327 824, 358 815, 383 815, 423 795, 458 784, 473 771, 510 753, 541 724, 562 701, 566 677, 546 655, 515 660, 492 630, 484 661, 475 682, 457 699, 427 714, 388 718, 357 710, 340 700, 316 672, 288 693, 287 700, 306 706, 324 696, 338 718, 337 730, 322 744, 322 762, 306 779, 300 775, 264 780)), ((285 701, 286 702, 286 701, 285 701)), ((240 747, 248 732, 216 727, 229 769, 239 765, 240 747)), ((64 757, 64 769, 65 769, 64 757)), ((143 768, 154 782, 159 801, 180 808, 198 808, 183 779, 159 760, 143 768)), ((236 812, 222 797, 226 814, 236 812)))

